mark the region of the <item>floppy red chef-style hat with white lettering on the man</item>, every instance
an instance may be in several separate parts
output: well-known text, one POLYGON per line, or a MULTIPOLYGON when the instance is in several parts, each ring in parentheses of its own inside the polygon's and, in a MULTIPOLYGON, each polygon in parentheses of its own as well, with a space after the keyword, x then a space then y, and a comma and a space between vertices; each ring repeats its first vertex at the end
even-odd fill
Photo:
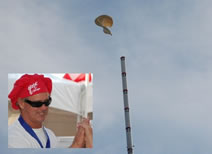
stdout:
POLYGON ((28 75, 25 74, 16 80, 12 91, 8 97, 11 100, 12 108, 18 110, 17 105, 18 98, 26 98, 39 93, 52 92, 52 80, 44 77, 44 75, 28 75))

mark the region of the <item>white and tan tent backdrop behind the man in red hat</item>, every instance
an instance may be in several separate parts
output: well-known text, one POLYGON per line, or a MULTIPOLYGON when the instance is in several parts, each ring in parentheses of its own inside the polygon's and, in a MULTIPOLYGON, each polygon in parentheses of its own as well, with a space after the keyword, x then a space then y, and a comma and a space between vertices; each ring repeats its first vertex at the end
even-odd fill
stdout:
MULTIPOLYGON (((8 75, 8 93, 12 90, 15 81, 22 75, 8 75)), ((43 75, 51 78, 53 82, 52 103, 44 125, 54 131, 60 140, 61 147, 65 147, 70 145, 69 142, 76 133, 76 124, 80 118, 89 116, 92 119, 92 82, 75 83, 62 78, 63 74, 43 75)), ((18 118, 19 111, 12 109, 10 100, 8 102, 8 125, 10 125, 18 118)))

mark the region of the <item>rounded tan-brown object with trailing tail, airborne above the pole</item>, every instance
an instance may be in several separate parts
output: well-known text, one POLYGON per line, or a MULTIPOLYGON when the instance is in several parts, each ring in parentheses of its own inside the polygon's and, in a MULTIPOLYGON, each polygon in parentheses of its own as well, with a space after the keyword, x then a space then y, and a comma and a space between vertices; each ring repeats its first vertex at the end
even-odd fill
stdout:
POLYGON ((112 27, 112 25, 113 25, 113 19, 110 16, 101 15, 95 19, 95 23, 96 23, 96 25, 103 27, 103 32, 105 34, 112 35, 110 30, 107 28, 107 27, 112 27))

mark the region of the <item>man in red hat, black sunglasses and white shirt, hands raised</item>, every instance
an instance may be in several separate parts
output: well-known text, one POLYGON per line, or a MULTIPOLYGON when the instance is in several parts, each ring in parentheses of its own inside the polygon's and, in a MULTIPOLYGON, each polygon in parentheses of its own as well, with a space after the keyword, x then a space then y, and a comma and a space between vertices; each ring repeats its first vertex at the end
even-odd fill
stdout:
MULTIPOLYGON (((20 117, 8 129, 9 148, 56 148, 53 131, 43 126, 51 104, 52 81, 43 75, 23 75, 8 95, 20 117)), ((78 124, 69 148, 92 148, 93 134, 88 119, 78 124)))

